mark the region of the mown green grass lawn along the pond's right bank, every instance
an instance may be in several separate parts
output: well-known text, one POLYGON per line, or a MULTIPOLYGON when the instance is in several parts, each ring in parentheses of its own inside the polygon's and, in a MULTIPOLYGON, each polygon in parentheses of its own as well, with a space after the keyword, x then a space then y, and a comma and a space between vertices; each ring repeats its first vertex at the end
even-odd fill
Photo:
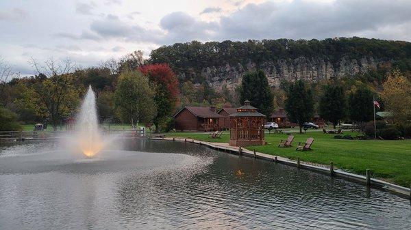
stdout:
MULTIPOLYGON (((345 132, 355 136, 356 132, 345 132)), ((221 139, 208 138, 209 134, 173 132, 167 137, 186 137, 199 141, 228 142, 229 133, 224 132, 221 139)), ((345 171, 365 174, 366 169, 371 169, 372 177, 384 179, 401 186, 410 188, 411 183, 411 140, 406 141, 374 141, 374 140, 341 140, 334 139, 334 134, 308 131, 307 134, 294 133, 293 146, 299 141, 305 142, 309 136, 314 137, 312 151, 297 152, 295 147, 279 148, 281 139, 286 139, 286 134, 266 133, 267 145, 250 146, 256 151, 284 156, 290 159, 299 157, 302 161, 319 164, 334 162, 334 166, 345 171)))

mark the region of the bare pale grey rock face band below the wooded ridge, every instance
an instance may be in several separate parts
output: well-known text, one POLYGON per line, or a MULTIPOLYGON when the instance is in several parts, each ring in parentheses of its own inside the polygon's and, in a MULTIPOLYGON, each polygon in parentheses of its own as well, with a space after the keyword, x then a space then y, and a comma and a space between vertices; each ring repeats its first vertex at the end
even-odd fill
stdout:
MULTIPOLYGON (((323 58, 299 57, 297 59, 279 59, 278 61, 266 61, 260 64, 260 69, 266 72, 270 85, 279 86, 282 81, 295 81, 303 79, 307 81, 320 81, 322 79, 340 78, 343 76, 353 76, 360 72, 366 72, 377 68, 382 63, 381 60, 373 57, 362 57, 361 59, 348 59, 343 57, 334 64, 323 58)), ((216 91, 220 91, 225 85, 228 89, 234 90, 240 85, 242 75, 250 70, 256 70, 256 63, 249 61, 246 65, 237 63, 236 65, 226 64, 224 66, 210 66, 201 68, 198 72, 190 70, 182 74, 194 77, 200 74, 216 91)))

